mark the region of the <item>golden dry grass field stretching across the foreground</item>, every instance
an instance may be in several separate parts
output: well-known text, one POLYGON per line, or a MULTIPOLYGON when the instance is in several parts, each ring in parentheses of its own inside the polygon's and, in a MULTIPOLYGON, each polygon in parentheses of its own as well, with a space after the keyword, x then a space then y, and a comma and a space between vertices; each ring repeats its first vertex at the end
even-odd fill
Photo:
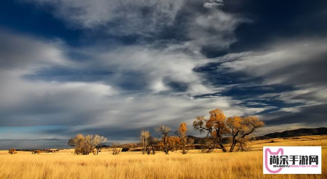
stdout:
POLYGON ((55 154, 0 151, 0 178, 327 178, 327 135, 253 141, 252 151, 203 154, 162 152, 142 155, 103 150, 98 156, 77 156, 72 149, 55 154), (322 174, 263 174, 263 146, 322 146, 322 174))

